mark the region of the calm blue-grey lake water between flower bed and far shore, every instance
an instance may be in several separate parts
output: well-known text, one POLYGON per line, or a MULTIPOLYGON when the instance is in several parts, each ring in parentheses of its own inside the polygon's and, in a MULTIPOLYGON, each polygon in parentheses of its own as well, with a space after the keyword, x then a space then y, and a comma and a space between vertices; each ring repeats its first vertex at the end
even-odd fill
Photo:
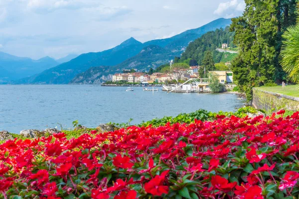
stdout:
POLYGON ((167 94, 144 92, 134 87, 90 85, 0 85, 0 130, 19 133, 23 129, 72 127, 72 122, 87 127, 100 123, 133 124, 155 117, 175 116, 203 108, 209 111, 234 111, 244 104, 233 94, 167 94))

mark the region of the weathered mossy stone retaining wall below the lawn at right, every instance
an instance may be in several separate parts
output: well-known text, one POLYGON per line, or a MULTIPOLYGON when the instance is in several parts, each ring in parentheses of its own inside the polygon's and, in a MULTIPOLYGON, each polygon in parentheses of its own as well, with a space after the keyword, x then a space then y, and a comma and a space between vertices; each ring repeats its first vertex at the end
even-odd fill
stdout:
POLYGON ((280 109, 299 111, 299 98, 253 88, 252 106, 265 111, 280 109))

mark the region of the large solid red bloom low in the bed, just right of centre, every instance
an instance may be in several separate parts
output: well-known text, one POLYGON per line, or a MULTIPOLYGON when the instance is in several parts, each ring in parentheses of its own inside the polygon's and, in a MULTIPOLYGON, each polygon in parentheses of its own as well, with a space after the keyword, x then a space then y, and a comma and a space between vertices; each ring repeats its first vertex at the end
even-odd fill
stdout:
POLYGON ((152 194, 153 196, 161 196, 162 194, 167 194, 169 188, 167 186, 163 186, 163 182, 168 172, 169 170, 164 171, 160 176, 155 176, 148 183, 146 183, 146 192, 152 194))

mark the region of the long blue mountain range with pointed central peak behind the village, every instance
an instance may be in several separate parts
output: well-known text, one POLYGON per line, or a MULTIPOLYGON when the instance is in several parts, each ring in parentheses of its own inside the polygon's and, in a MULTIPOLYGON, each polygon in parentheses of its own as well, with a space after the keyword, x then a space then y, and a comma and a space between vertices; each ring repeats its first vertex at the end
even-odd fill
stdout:
MULTIPOLYGON (((40 74, 21 79, 15 83, 89 84, 91 82, 99 83, 107 80, 111 74, 122 71, 123 69, 149 70, 149 68, 155 68, 169 62, 174 56, 180 56, 188 43, 202 34, 217 28, 225 28, 230 24, 231 19, 220 18, 173 37, 151 40, 145 43, 141 43, 131 37, 112 49, 97 53, 81 54, 68 62, 52 68, 48 67, 40 74), (91 76, 99 77, 99 81, 91 81, 91 76), (82 78, 85 78, 85 80, 82 78)), ((57 61, 59 60, 55 62, 57 61)))

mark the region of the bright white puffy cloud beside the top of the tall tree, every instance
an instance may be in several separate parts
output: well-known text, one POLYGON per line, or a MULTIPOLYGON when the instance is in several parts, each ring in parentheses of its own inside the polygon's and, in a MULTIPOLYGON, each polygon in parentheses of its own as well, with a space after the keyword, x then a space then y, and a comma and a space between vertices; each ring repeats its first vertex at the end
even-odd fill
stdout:
POLYGON ((218 8, 214 11, 214 14, 221 15, 225 13, 226 15, 234 15, 234 11, 243 11, 245 8, 244 0, 231 0, 227 2, 221 2, 218 5, 218 8), (227 13, 230 12, 230 13, 227 13))

